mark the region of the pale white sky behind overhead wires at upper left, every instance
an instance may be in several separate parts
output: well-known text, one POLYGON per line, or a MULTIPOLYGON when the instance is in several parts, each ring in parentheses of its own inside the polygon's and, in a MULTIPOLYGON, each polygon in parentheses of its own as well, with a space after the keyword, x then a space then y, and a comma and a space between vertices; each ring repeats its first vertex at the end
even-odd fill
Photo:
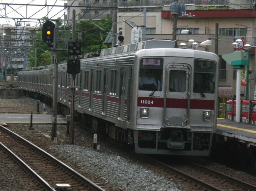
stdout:
POLYGON ((30 26, 35 26, 39 24, 37 19, 47 17, 47 13, 50 20, 57 19, 58 17, 64 19, 64 2, 67 2, 67 0, 0 0, 0 24, 15 26, 20 20, 14 20, 13 18, 23 18, 21 20, 22 26, 27 23, 30 23, 30 26), (7 3, 18 5, 3 5, 7 3), (42 5, 58 5, 60 7, 49 6, 47 8, 47 6, 42 5))

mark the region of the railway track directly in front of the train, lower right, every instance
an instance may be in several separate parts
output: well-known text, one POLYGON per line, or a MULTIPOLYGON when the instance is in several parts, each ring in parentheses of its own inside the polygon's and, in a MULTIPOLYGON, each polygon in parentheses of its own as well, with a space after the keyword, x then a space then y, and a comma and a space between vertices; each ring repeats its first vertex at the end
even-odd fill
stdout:
POLYGON ((160 162, 156 159, 150 159, 156 163, 160 168, 164 168, 180 177, 193 182, 201 190, 210 191, 256 191, 256 186, 242 180, 233 178, 229 175, 223 174, 206 168, 194 162, 189 162, 188 165, 168 165, 166 162, 160 162))

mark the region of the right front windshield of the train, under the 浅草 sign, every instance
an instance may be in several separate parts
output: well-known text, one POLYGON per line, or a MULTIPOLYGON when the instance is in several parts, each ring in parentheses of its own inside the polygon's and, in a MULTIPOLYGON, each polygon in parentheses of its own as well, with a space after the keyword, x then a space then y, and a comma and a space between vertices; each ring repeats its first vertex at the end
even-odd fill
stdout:
POLYGON ((195 60, 193 92, 214 93, 216 81, 216 63, 195 60))

